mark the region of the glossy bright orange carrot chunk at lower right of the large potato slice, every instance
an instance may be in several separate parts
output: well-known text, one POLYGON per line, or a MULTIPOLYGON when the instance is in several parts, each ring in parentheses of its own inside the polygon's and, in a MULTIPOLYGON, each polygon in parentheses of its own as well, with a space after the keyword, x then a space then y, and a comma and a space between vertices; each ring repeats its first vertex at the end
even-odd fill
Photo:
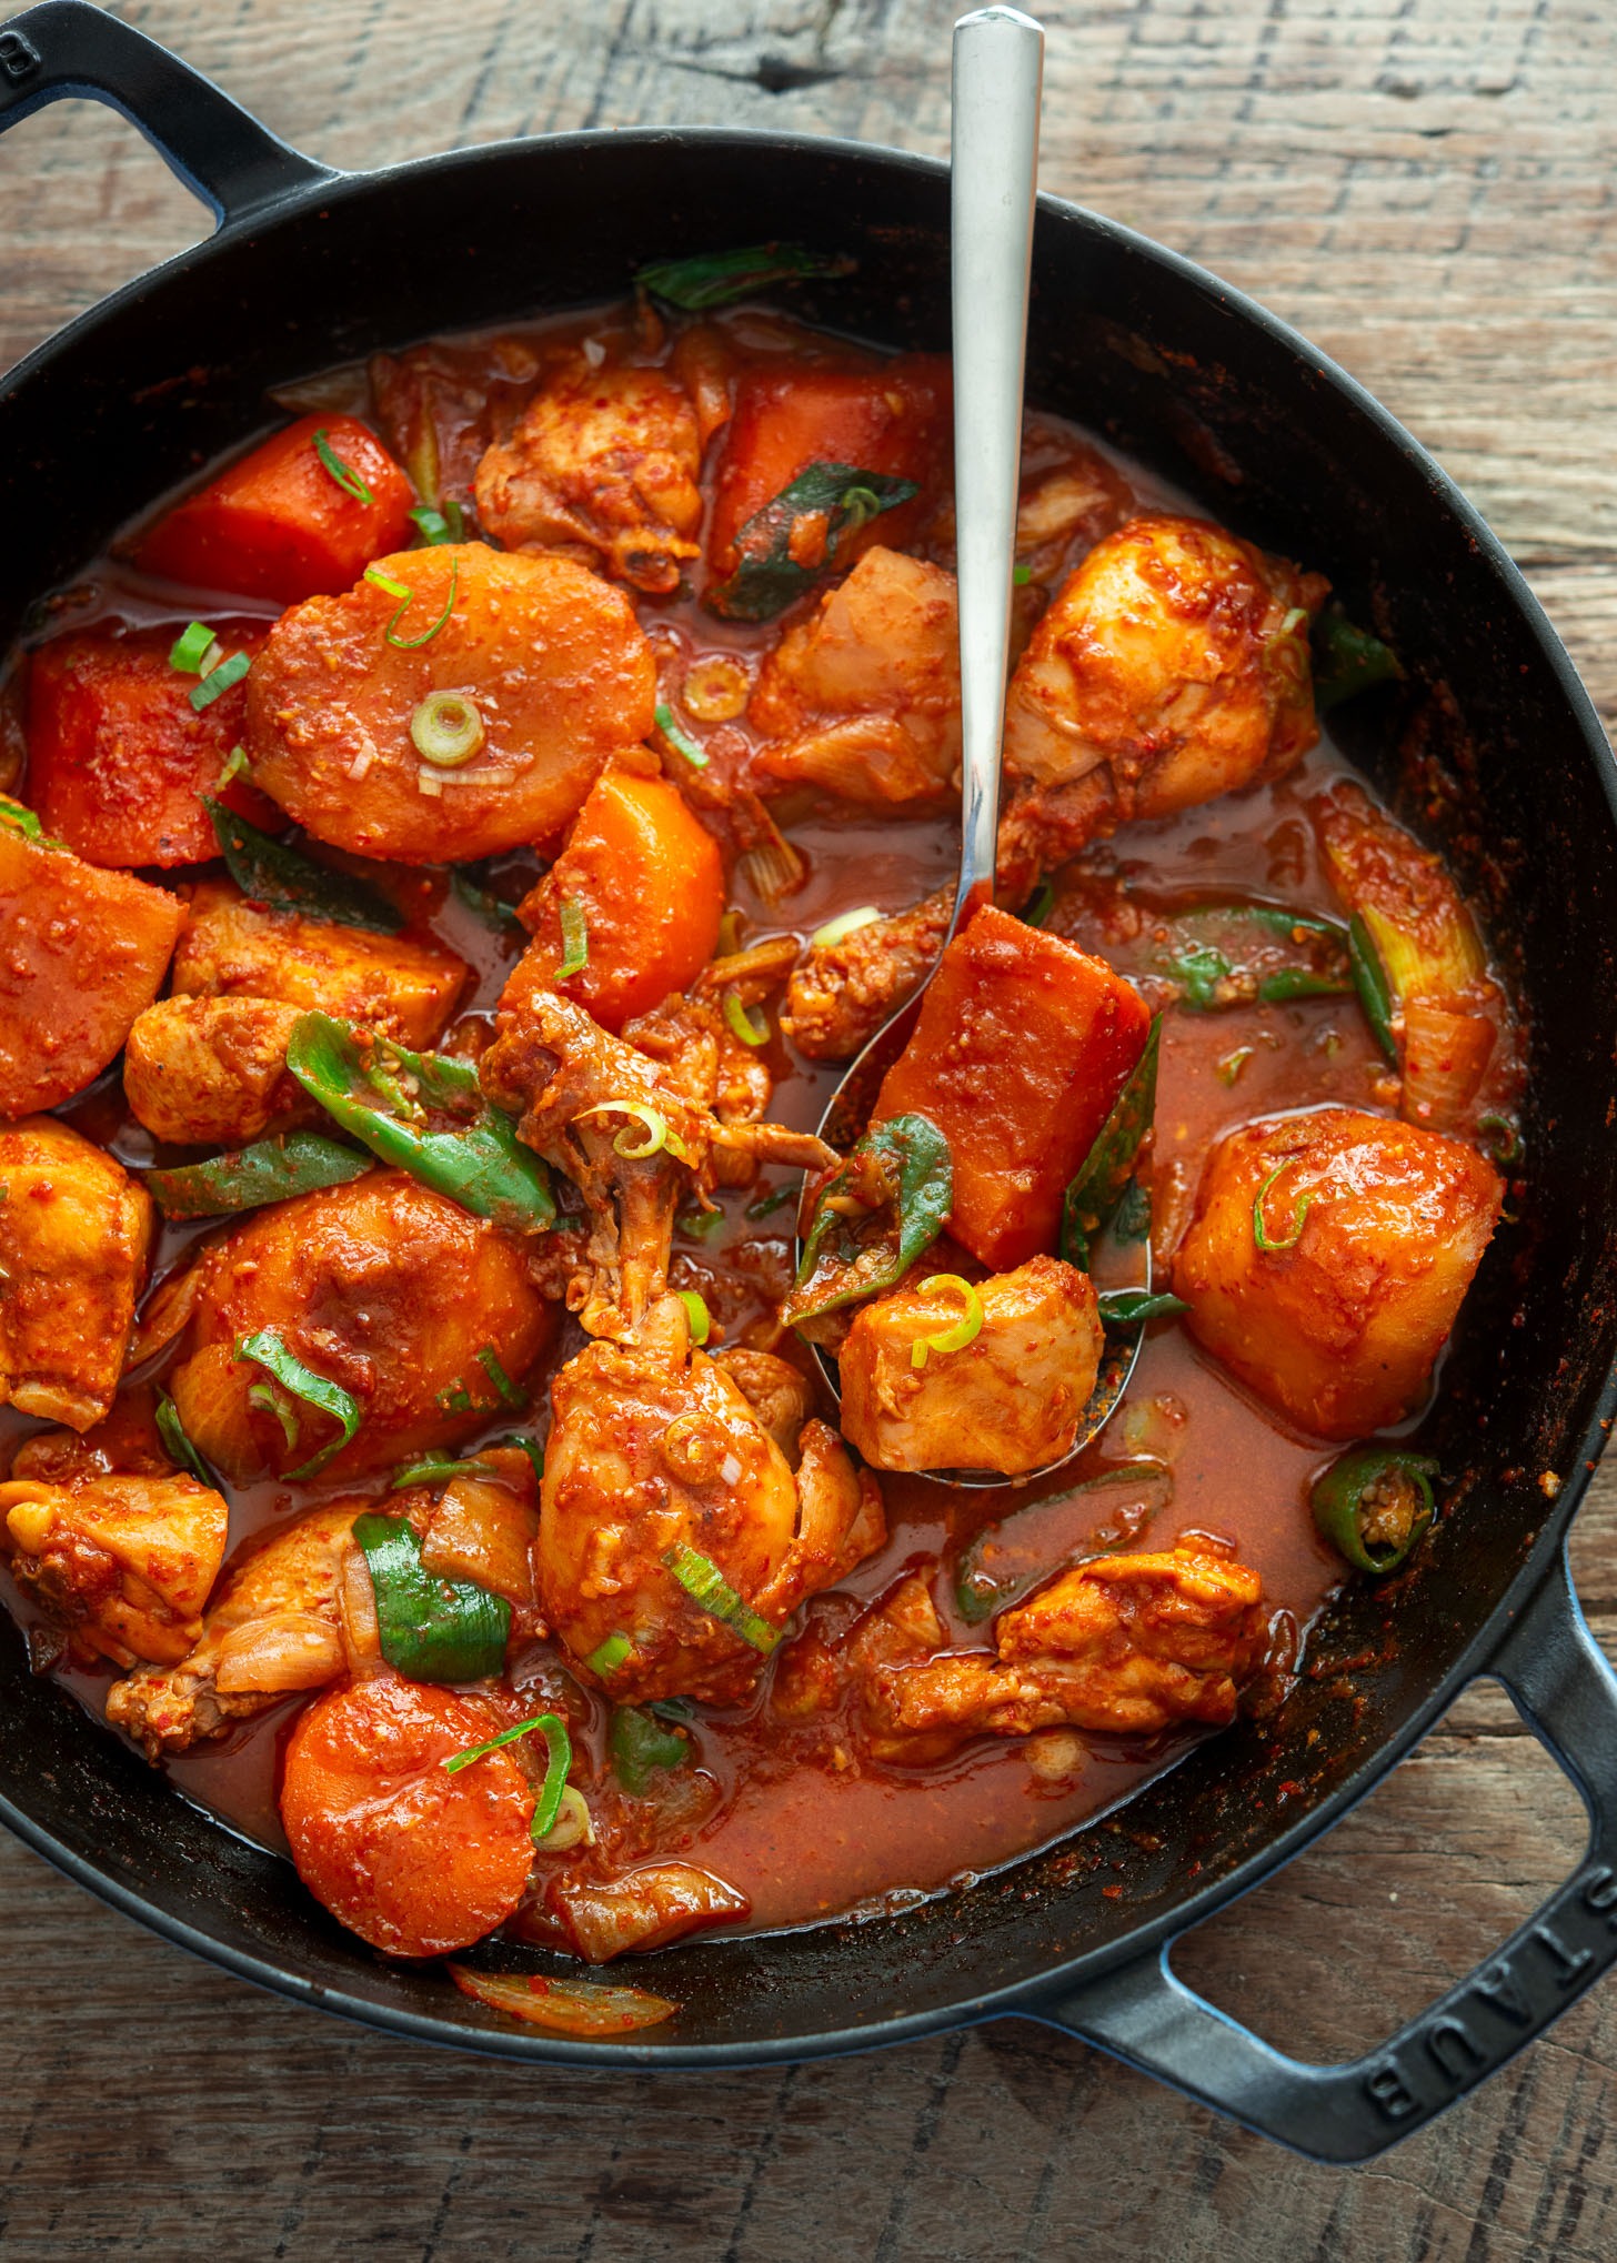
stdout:
POLYGON ((578 812, 566 849, 523 905, 534 930, 507 984, 514 1007, 534 982, 575 998, 611 1032, 684 989, 713 957, 725 914, 718 842, 664 778, 609 769, 578 812), (562 905, 584 919, 589 957, 566 957, 562 905))

